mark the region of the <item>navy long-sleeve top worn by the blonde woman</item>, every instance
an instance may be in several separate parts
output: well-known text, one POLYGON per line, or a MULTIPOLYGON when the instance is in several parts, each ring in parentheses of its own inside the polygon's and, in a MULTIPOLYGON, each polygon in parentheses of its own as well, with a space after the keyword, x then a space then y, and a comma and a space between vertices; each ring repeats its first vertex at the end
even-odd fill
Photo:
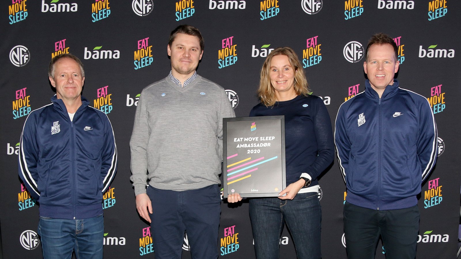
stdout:
POLYGON ((325 104, 315 95, 298 95, 292 100, 279 101, 266 107, 253 107, 250 116, 285 116, 286 182, 299 180, 301 173, 312 177, 310 186, 333 161, 334 144, 331 121, 325 104))

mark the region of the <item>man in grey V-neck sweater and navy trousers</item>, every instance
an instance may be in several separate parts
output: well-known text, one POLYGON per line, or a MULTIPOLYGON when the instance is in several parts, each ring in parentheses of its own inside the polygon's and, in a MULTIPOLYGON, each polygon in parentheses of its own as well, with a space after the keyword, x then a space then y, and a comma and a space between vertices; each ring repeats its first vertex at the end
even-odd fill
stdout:
POLYGON ((130 179, 156 259, 180 259, 184 231, 192 258, 218 258, 222 123, 235 113, 224 88, 195 71, 203 47, 195 27, 174 29, 171 72, 142 90, 136 109, 130 179))

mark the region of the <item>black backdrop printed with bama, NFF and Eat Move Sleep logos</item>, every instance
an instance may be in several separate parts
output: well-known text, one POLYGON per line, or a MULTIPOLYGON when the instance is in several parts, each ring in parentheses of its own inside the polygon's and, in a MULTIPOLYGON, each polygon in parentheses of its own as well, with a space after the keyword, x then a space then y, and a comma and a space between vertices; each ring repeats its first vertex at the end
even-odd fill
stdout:
MULTIPOLYGON (((59 53, 82 59, 83 95, 111 119, 118 173, 104 195, 105 258, 152 258, 150 228, 138 216, 129 140, 142 88, 167 76, 169 33, 199 28, 198 73, 226 89, 239 117, 258 103, 261 65, 290 46, 333 123, 337 109, 365 89, 364 48, 384 32, 399 46, 402 88, 429 100, 438 127, 437 165, 422 185, 418 258, 455 258, 459 224, 461 2, 455 0, 6 0, 0 4, 0 223, 5 258, 41 258, 38 206, 18 177, 18 142, 27 115, 54 94, 47 65, 59 53)), ((174 125, 171 125, 174 127, 174 125)), ((187 132, 184 132, 187 137, 187 132)), ((346 258, 345 185, 337 161, 320 177, 323 258, 346 258)), ((284 230, 281 258, 296 258, 284 230)), ((187 236, 183 258, 190 258, 187 236)), ((220 258, 254 258, 248 203, 223 201, 220 258)), ((377 258, 385 247, 378 244, 377 258)))

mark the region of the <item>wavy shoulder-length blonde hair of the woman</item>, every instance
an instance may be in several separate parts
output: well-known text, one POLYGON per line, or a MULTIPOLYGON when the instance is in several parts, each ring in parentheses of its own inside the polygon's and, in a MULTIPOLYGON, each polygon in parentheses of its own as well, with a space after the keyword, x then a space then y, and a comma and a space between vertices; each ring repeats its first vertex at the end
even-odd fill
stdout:
POLYGON ((309 86, 307 85, 306 75, 304 74, 304 69, 299 62, 295 51, 290 47, 278 47, 272 50, 269 55, 267 55, 266 61, 264 61, 264 64, 261 68, 258 96, 261 100, 261 103, 265 106, 273 106, 277 101, 275 97, 275 89, 271 84, 270 72, 272 57, 278 55, 287 56, 291 67, 295 70, 294 88, 296 94, 303 94, 307 96, 310 93, 309 86))

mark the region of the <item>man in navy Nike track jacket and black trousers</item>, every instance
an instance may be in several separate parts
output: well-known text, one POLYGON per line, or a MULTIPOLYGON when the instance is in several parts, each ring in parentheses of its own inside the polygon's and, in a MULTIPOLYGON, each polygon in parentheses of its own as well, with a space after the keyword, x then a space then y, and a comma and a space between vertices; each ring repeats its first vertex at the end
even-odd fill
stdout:
POLYGON ((424 96, 399 87, 397 46, 373 35, 365 91, 344 102, 335 144, 347 186, 344 233, 349 259, 372 259, 381 235, 387 259, 414 259, 416 195, 437 157, 437 128, 424 96))

